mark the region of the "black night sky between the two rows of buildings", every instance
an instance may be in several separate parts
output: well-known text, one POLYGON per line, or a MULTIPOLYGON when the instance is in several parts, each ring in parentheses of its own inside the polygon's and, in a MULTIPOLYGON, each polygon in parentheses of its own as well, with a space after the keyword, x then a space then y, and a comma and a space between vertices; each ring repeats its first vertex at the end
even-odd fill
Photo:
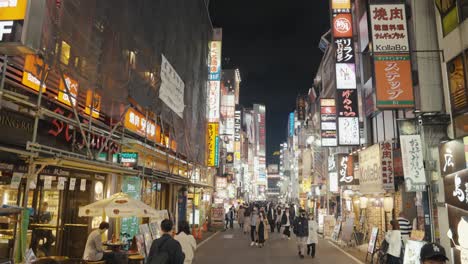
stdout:
POLYGON ((223 28, 223 68, 241 72, 240 103, 267 108, 267 154, 286 139, 296 96, 306 94, 330 28, 326 0, 211 0, 215 27, 223 28))

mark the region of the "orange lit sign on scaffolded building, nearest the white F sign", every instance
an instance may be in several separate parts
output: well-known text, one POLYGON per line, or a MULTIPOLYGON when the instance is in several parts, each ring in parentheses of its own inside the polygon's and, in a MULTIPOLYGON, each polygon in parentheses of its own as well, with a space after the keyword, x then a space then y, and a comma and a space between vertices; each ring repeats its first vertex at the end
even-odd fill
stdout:
MULTIPOLYGON (((1 8, 0 8, 1 10, 1 8)), ((47 70, 48 66, 44 67, 44 61, 36 55, 26 55, 24 59, 23 79, 21 83, 25 86, 39 91, 40 78, 42 70, 47 70)), ((46 91, 45 83, 42 84, 42 92, 46 91)))

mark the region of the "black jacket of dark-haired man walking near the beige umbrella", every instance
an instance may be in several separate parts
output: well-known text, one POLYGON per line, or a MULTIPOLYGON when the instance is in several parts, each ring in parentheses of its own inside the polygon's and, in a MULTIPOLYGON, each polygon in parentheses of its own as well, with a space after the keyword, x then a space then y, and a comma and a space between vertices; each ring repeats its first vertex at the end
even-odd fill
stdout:
POLYGON ((173 239, 170 235, 167 234, 164 234, 162 237, 153 241, 146 263, 151 263, 152 259, 156 256, 160 245, 162 245, 161 251, 166 251, 169 255, 169 263, 184 263, 185 255, 182 252, 182 247, 177 240, 173 239))

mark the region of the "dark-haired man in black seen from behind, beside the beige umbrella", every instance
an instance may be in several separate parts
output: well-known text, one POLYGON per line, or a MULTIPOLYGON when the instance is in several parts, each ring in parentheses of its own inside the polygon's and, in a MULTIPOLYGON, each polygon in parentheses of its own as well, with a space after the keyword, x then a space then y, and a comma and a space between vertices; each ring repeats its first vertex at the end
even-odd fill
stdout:
POLYGON ((148 259, 146 260, 147 264, 184 263, 185 254, 182 252, 182 247, 180 243, 171 236, 173 225, 174 224, 169 219, 164 219, 161 222, 162 236, 154 240, 151 244, 150 253, 148 254, 148 259))

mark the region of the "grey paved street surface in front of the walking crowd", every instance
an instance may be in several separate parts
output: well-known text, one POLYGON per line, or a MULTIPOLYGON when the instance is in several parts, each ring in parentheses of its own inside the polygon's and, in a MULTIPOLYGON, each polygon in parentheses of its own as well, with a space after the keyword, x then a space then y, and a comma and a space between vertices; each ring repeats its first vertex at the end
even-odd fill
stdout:
POLYGON ((239 229, 220 232, 197 249, 195 256, 195 264, 356 263, 323 239, 314 259, 309 256, 300 259, 294 237, 285 240, 278 233, 270 234, 265 247, 250 247, 250 235, 239 229))

